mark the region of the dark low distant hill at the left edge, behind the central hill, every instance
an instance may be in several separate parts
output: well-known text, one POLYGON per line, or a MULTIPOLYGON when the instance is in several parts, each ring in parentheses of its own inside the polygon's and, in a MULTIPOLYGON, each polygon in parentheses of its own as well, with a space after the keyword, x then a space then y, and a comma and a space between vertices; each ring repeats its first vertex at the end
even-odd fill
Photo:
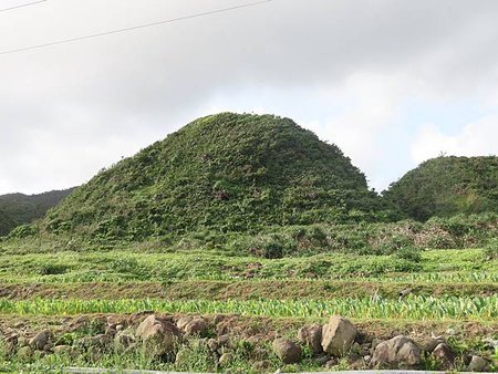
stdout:
POLYGON ((41 218, 56 206, 74 188, 54 190, 39 195, 0 195, 0 236, 9 233, 20 225, 41 218))

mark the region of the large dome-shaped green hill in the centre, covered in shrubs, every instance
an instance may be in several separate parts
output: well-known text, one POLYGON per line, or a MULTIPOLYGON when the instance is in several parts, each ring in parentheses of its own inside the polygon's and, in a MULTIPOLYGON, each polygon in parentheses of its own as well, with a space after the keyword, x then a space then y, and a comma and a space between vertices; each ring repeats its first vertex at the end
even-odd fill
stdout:
POLYGON ((343 219, 376 202, 335 146, 289 118, 199 118, 101 172, 42 222, 53 233, 141 240, 343 219))

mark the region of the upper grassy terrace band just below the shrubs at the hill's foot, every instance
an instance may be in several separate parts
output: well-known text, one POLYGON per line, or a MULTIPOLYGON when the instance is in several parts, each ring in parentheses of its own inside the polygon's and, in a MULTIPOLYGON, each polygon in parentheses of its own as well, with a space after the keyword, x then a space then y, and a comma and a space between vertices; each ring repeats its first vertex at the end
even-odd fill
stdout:
POLYGON ((498 261, 481 249, 429 250, 414 262, 394 256, 322 253, 304 258, 230 257, 222 251, 176 253, 61 252, 2 254, 0 282, 347 279, 388 282, 497 282, 498 261))

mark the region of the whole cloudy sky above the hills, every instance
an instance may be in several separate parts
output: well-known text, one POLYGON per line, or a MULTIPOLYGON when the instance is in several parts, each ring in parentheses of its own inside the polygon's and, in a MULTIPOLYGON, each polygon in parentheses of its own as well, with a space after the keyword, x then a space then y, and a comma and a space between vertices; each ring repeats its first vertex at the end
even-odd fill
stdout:
POLYGON ((381 191, 498 153, 498 1, 0 0, 0 194, 87 181, 190 121, 271 113, 381 191))

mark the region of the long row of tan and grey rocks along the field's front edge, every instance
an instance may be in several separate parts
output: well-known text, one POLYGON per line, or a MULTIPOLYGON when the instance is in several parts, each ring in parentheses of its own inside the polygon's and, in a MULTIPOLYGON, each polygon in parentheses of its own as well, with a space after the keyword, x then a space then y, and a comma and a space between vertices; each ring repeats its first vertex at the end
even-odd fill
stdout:
MULTIPOLYGON (((76 330, 87 322, 76 320, 71 326, 76 330)), ((82 350, 94 354, 125 354, 139 350, 151 360, 175 362, 178 367, 188 362, 196 347, 203 346, 218 368, 228 367, 237 360, 237 347, 242 344, 234 334, 235 328, 227 324, 222 315, 206 320, 191 315, 174 319, 138 313, 127 320, 111 316, 106 322, 101 329, 104 333, 89 334, 72 342, 50 330, 30 336, 11 333, 2 339, 20 361, 49 354, 75 356, 82 350)), ((396 335, 378 340, 359 332, 351 321, 339 315, 331 316, 324 325, 314 323, 302 326, 295 339, 272 332, 246 337, 243 344, 252 346, 253 368, 257 372, 268 372, 272 366, 271 360, 278 359, 286 365, 300 363, 304 357, 314 360, 325 368, 333 368, 339 362, 346 363, 351 370, 416 370, 423 368, 424 362, 433 362, 437 368, 445 371, 465 368, 484 372, 491 367, 488 360, 476 354, 457 356, 442 336, 414 341, 396 335), (270 350, 264 350, 264 346, 270 350)))

